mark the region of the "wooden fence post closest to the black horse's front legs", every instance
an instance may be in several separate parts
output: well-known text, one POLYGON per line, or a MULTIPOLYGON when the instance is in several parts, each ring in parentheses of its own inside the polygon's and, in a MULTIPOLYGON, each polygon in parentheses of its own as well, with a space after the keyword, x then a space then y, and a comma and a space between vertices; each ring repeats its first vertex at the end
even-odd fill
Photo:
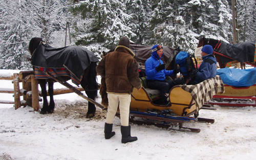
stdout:
POLYGON ((38 101, 38 81, 35 79, 35 76, 31 76, 31 90, 32 90, 32 107, 34 111, 39 110, 39 101, 38 101))

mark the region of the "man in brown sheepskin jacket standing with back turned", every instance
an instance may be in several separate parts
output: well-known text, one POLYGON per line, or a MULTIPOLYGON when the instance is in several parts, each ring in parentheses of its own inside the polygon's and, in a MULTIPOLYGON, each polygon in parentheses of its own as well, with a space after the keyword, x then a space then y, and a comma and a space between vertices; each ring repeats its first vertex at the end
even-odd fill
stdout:
POLYGON ((113 120, 119 105, 122 143, 137 141, 131 136, 129 112, 133 88, 142 87, 139 79, 138 63, 135 54, 130 50, 130 39, 122 37, 114 52, 108 53, 96 67, 97 73, 105 78, 109 107, 104 127, 105 139, 115 135, 112 131, 113 120))

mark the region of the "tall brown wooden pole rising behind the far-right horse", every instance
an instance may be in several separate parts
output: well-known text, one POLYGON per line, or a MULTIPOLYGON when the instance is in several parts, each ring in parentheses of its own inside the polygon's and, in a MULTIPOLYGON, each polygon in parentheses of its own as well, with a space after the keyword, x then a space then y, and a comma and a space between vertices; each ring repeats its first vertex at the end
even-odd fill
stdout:
POLYGON ((232 3, 232 24, 233 24, 233 43, 238 43, 238 18, 237 18, 237 0, 231 0, 232 3))

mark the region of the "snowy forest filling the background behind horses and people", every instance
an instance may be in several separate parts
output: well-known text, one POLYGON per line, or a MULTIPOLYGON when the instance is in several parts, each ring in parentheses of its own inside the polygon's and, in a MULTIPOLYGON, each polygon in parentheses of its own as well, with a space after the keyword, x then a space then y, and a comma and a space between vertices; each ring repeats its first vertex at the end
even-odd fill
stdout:
MULTIPOLYGON (((256 39, 256 1, 237 0, 238 40, 256 39)), ((200 36, 233 41, 231 0, 0 0, 0 69, 28 70, 28 44, 80 45, 99 58, 122 36, 193 54, 200 36)))

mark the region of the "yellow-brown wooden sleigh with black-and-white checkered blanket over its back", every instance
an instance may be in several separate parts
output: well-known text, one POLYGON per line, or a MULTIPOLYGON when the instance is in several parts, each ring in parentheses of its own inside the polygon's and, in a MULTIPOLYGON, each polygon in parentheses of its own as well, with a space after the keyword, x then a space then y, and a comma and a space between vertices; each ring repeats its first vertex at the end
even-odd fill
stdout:
POLYGON ((160 91, 149 89, 146 78, 141 78, 142 88, 133 90, 130 106, 130 122, 137 124, 154 124, 156 126, 178 126, 175 130, 199 132, 200 129, 185 128, 186 121, 203 121, 214 123, 214 119, 199 118, 199 110, 204 107, 204 102, 210 100, 217 93, 224 92, 224 84, 220 76, 207 79, 196 85, 177 85, 170 89, 169 104, 157 104, 160 99, 160 91), (135 120, 142 118, 151 120, 143 122, 135 120), (164 123, 164 124, 163 124, 164 123), (178 129, 177 129, 178 128, 178 129))

